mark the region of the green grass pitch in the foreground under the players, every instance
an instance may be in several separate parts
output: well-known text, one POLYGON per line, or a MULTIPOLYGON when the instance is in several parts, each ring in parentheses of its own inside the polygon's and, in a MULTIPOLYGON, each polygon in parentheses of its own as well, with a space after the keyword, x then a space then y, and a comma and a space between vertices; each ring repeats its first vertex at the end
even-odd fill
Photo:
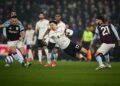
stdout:
POLYGON ((37 61, 30 68, 17 62, 10 68, 0 61, 0 86, 120 86, 120 62, 111 69, 96 71, 96 62, 59 61, 55 68, 44 68, 37 61))

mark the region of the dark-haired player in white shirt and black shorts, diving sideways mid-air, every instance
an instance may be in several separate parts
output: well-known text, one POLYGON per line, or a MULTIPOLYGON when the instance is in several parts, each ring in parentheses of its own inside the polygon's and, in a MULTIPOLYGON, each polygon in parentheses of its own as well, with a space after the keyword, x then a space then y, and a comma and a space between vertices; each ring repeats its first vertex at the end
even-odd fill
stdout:
POLYGON ((73 57, 79 57, 77 53, 83 51, 87 53, 87 50, 75 43, 72 43, 71 40, 65 35, 64 32, 60 31, 57 27, 56 21, 50 21, 51 31, 48 35, 45 36, 44 39, 49 40, 52 39, 59 47, 68 55, 73 57))

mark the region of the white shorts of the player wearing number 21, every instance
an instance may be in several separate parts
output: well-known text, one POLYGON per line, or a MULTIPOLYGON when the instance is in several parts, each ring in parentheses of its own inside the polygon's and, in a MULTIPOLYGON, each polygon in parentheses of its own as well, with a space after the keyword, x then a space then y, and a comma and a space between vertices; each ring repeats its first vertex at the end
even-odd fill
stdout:
POLYGON ((105 55, 107 52, 109 52, 114 47, 115 47, 115 44, 102 43, 101 46, 98 48, 97 52, 102 53, 103 55, 105 55))

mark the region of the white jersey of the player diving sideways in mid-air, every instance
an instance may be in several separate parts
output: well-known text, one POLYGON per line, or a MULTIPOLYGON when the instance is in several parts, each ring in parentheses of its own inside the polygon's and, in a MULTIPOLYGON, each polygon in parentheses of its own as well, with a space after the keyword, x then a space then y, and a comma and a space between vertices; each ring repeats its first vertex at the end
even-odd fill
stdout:
POLYGON ((54 40, 54 42, 58 44, 61 49, 66 49, 70 44, 70 39, 66 37, 65 33, 59 29, 56 31, 51 30, 48 36, 50 39, 54 40))

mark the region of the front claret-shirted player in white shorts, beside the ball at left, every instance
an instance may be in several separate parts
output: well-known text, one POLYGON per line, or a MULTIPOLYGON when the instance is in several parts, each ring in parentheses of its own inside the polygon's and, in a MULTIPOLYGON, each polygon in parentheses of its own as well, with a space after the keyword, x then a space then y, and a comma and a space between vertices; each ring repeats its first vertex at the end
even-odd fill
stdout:
POLYGON ((5 26, 5 33, 7 39, 7 45, 9 46, 9 54, 6 57, 5 61, 6 67, 10 66, 10 63, 13 62, 13 58, 18 60, 23 66, 30 66, 27 63, 26 53, 24 50, 24 28, 21 28, 18 24, 18 19, 16 16, 10 18, 10 23, 5 26))

